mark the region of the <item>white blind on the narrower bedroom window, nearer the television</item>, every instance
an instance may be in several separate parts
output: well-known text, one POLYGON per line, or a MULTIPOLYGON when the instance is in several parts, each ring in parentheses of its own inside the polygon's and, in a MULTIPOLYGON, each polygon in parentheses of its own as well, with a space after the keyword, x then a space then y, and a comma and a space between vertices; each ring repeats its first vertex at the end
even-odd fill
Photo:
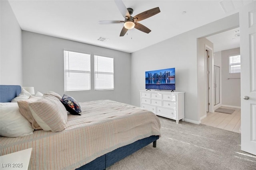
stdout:
POLYGON ((114 59, 94 55, 94 90, 114 90, 114 59))

